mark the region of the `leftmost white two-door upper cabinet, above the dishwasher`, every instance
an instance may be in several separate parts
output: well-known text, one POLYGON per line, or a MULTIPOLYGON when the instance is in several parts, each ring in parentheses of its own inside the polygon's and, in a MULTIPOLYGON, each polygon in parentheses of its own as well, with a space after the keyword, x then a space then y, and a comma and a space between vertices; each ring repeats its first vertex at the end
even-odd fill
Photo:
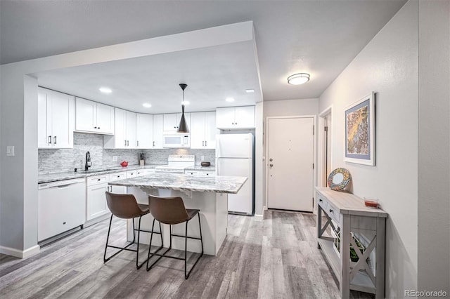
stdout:
POLYGON ((71 148, 75 130, 75 97, 39 87, 37 147, 71 148))

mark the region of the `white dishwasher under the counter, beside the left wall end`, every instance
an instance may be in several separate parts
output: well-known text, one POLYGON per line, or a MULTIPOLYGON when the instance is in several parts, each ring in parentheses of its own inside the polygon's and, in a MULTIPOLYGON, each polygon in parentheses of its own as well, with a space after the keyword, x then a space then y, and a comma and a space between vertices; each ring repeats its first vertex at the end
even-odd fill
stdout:
POLYGON ((84 178, 47 182, 38 186, 38 241, 84 224, 86 221, 84 178))

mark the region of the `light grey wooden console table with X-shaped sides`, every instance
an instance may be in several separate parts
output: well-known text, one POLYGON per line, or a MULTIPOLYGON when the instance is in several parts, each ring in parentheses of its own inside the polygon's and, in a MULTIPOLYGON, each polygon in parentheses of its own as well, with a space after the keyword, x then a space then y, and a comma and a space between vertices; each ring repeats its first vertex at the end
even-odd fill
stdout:
POLYGON ((347 192, 316 187, 317 243, 331 269, 338 277, 340 296, 350 297, 350 290, 375 294, 385 298, 385 225, 387 213, 368 208, 364 200, 347 192), (325 216, 326 222, 322 218, 325 216), (340 227, 340 250, 335 248, 335 236, 328 234, 328 225, 340 227), (358 249, 354 237, 366 248, 358 249), (350 245, 359 260, 350 260, 350 245))

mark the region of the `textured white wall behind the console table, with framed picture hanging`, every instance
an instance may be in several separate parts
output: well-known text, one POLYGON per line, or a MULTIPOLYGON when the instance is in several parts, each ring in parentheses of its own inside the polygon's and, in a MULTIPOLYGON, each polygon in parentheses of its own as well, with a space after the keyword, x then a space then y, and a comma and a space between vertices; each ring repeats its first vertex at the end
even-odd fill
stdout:
POLYGON ((333 105, 333 165, 352 174, 353 192, 374 196, 389 213, 386 297, 417 288, 418 2, 409 1, 319 98, 333 105), (375 92, 376 166, 344 161, 344 109, 375 92))

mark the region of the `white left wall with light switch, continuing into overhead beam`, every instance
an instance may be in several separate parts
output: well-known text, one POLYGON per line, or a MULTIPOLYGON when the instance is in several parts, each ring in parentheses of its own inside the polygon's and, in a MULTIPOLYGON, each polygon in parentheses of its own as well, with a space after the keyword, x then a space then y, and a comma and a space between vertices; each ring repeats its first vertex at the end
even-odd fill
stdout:
POLYGON ((22 257, 39 251, 37 81, 27 74, 253 39, 252 22, 242 22, 0 65, 0 253, 22 257), (6 157, 6 145, 15 146, 15 157, 6 157))

